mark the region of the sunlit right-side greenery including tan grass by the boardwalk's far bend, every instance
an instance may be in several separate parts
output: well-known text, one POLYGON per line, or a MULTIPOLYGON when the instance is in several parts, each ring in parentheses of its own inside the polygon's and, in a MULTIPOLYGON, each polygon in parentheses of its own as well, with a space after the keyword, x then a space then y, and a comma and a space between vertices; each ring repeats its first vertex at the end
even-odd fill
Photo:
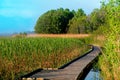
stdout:
POLYGON ((109 0, 103 2, 100 8, 104 13, 104 22, 98 25, 94 32, 93 43, 102 46, 102 55, 99 58, 101 76, 104 80, 120 79, 120 1, 109 0))

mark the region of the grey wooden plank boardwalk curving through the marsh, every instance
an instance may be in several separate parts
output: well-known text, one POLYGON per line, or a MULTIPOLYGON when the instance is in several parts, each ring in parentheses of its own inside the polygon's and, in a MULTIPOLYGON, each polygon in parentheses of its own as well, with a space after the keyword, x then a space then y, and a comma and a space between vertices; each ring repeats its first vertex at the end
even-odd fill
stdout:
MULTIPOLYGON (((83 70, 99 55, 100 49, 93 46, 93 50, 84 57, 73 61, 71 64, 63 67, 63 69, 41 70, 31 75, 24 76, 30 80, 79 80, 83 70), (81 73, 81 74, 80 74, 81 73)), ((25 80, 26 80, 25 79, 25 80)), ((24 78, 23 78, 24 80, 24 78)))

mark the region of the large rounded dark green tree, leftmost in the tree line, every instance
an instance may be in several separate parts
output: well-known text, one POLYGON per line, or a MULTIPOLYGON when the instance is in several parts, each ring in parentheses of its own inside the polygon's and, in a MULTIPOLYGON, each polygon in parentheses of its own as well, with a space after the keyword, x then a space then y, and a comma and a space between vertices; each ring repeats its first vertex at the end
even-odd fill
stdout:
POLYGON ((39 17, 36 25, 36 33, 66 33, 68 22, 73 17, 69 9, 50 10, 39 17))

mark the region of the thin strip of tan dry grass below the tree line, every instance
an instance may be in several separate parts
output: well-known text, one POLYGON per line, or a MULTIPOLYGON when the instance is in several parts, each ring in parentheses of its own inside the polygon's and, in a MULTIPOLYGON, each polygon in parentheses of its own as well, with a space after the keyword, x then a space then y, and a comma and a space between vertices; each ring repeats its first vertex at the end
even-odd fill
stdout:
POLYGON ((51 38, 85 38, 90 34, 29 34, 27 37, 51 37, 51 38))

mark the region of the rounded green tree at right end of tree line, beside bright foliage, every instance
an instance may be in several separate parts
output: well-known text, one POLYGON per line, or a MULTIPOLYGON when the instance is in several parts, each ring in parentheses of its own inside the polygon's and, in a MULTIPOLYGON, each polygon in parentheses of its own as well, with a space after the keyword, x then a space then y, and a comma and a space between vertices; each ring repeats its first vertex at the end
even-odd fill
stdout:
POLYGON ((105 24, 106 11, 102 8, 94 9, 87 21, 90 32, 96 31, 100 26, 105 24))

